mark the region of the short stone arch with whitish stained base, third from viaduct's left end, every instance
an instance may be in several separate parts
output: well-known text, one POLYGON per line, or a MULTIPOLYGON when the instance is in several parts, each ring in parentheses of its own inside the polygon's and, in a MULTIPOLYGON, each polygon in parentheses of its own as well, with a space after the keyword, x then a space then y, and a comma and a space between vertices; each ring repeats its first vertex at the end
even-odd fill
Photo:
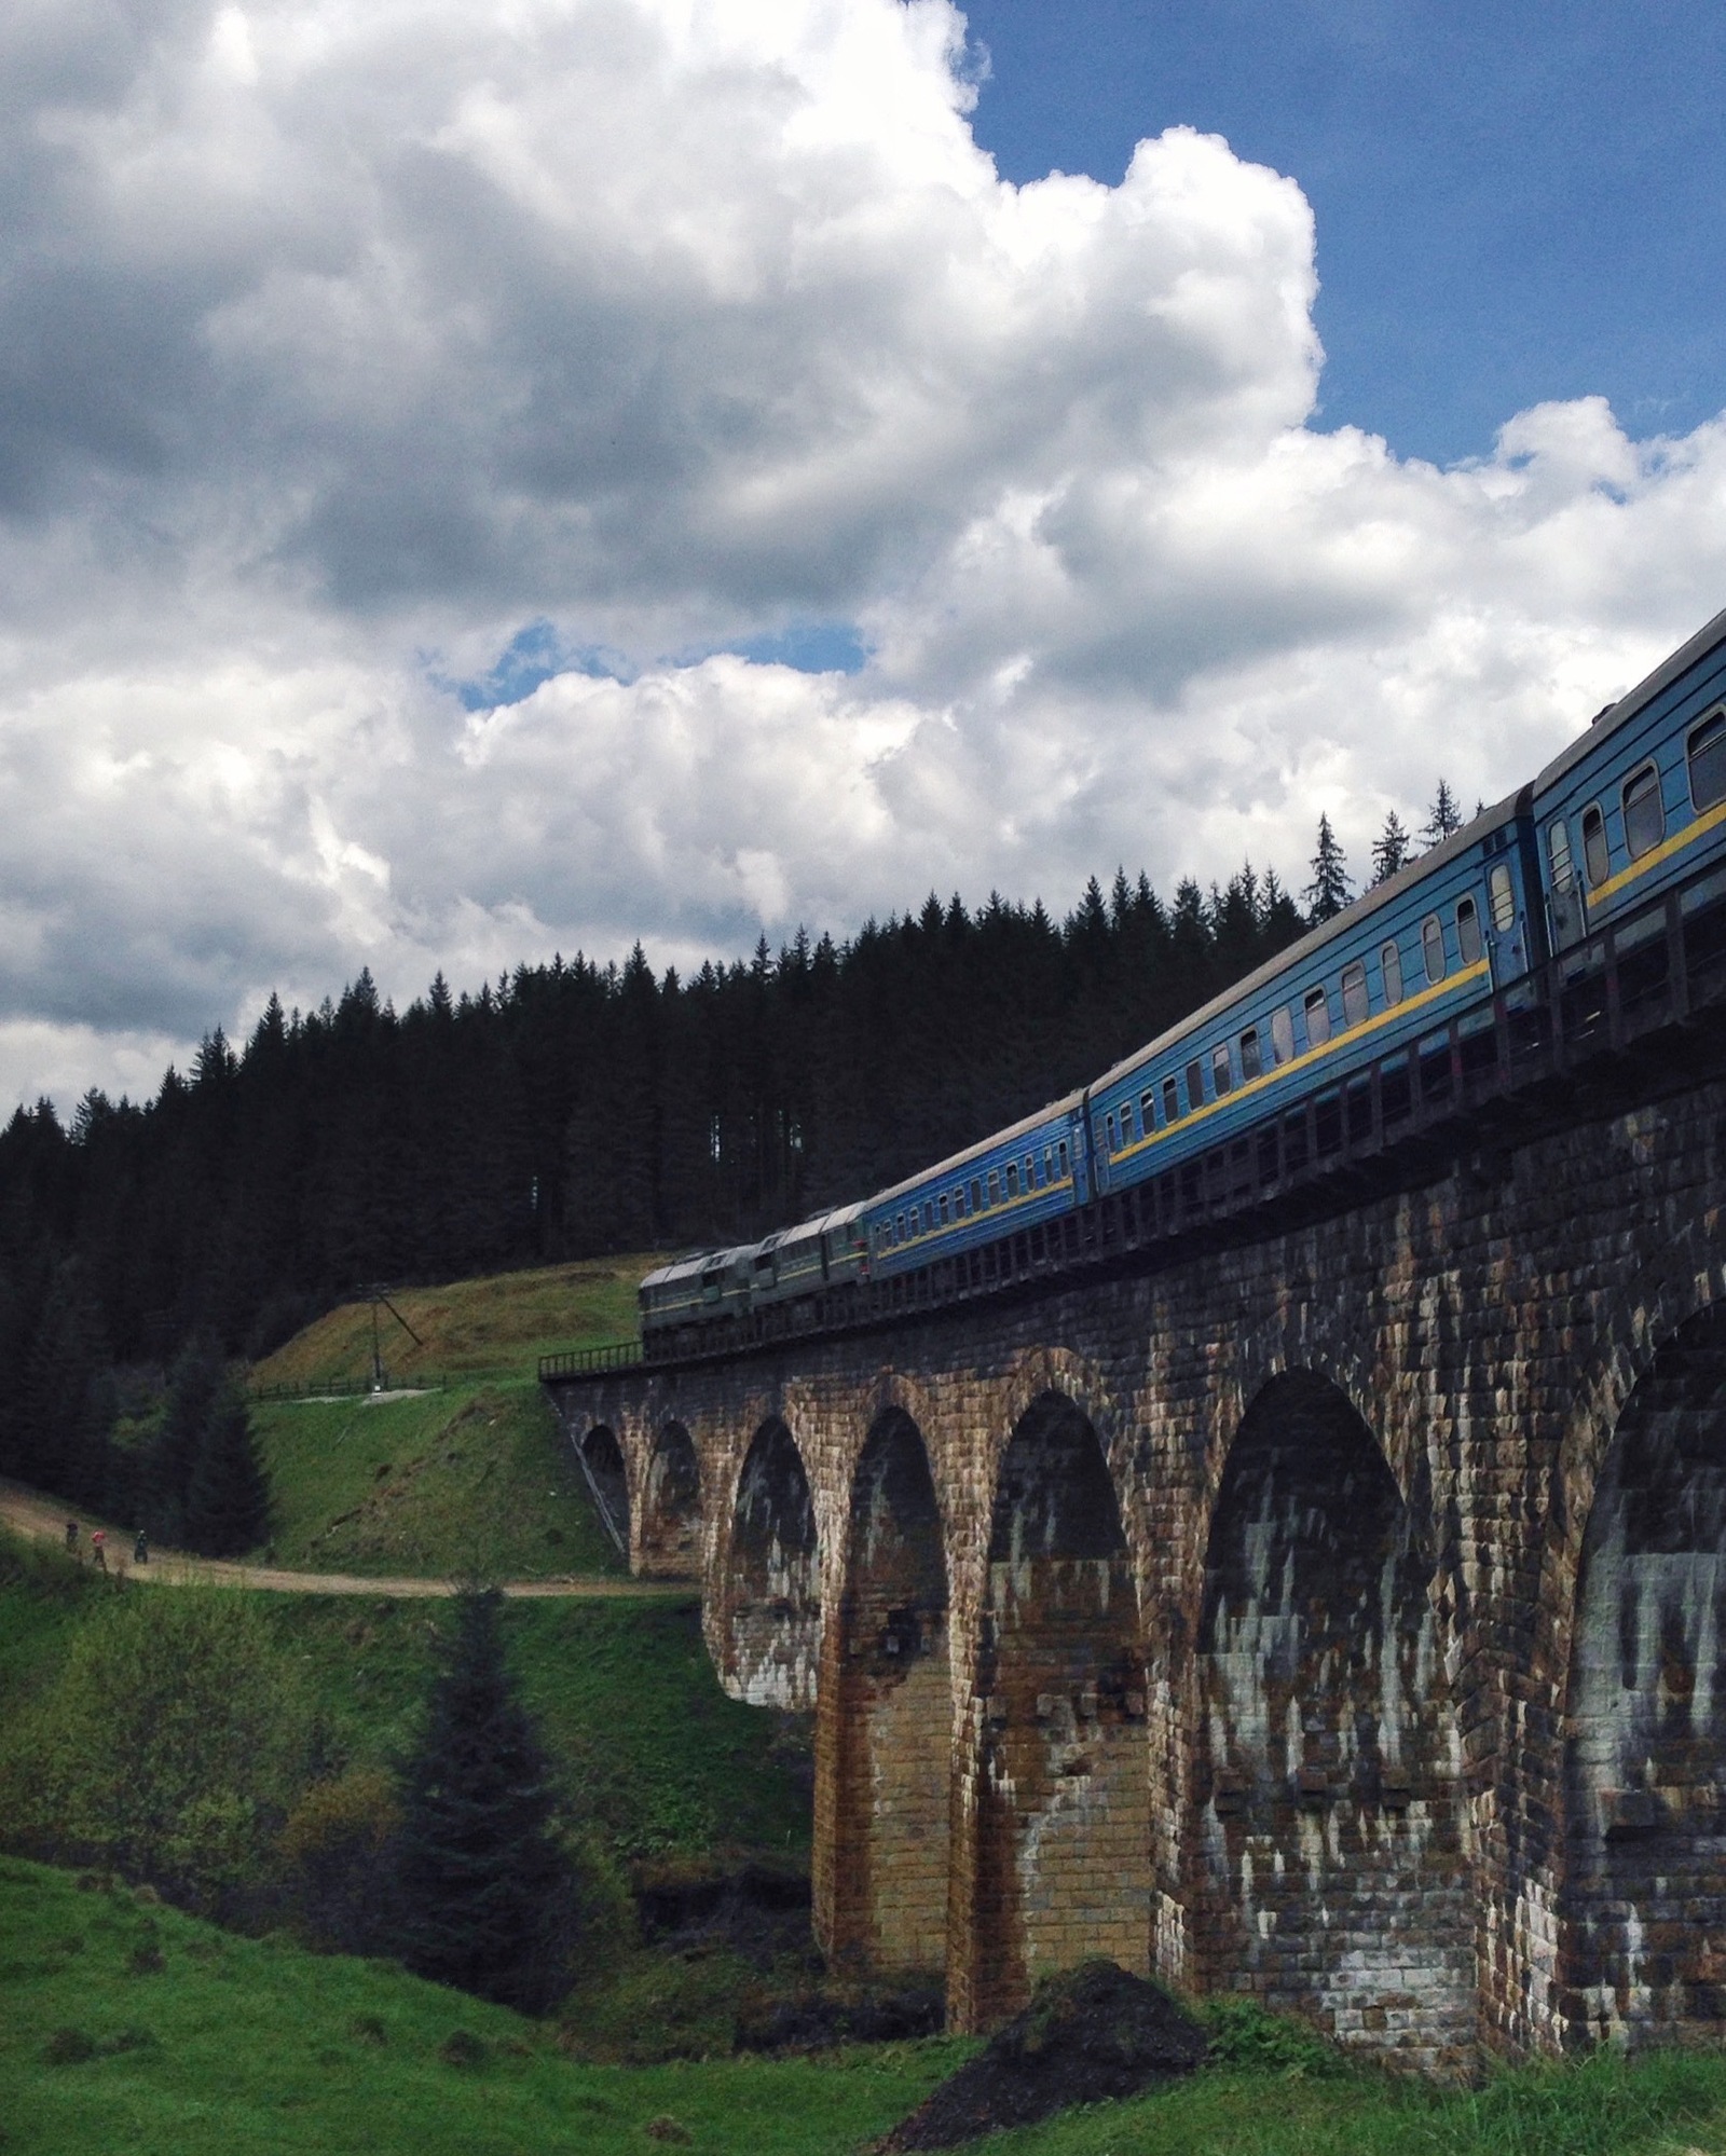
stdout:
POLYGON ((755 1432, 731 1514, 727 1690, 813 1708, 822 1643, 820 1537, 809 1473, 779 1416, 755 1432))

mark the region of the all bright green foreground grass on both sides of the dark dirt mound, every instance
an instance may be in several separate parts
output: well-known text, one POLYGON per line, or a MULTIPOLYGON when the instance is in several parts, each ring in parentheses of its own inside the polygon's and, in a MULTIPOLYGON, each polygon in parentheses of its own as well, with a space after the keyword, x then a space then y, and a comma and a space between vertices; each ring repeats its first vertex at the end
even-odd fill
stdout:
MULTIPOLYGON (((848 2156, 967 2053, 587 2065, 554 2031, 391 1964, 309 1955, 125 1889, 0 1863, 9 2156, 848 2156)), ((1726 2063, 1506 2074, 1437 2096, 1370 2072, 1210 2068, 975 2143, 988 2156, 1681 2156, 1726 2132, 1726 2063)))

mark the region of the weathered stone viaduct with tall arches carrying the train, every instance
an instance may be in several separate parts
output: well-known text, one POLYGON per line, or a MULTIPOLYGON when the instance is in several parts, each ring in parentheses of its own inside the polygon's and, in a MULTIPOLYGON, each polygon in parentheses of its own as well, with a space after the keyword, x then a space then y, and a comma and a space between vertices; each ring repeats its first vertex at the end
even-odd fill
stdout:
POLYGON ((552 1384, 816 1710, 816 1927, 1087 1953, 1456 2072, 1726 2035, 1726 1082, 1323 1216, 552 1384))

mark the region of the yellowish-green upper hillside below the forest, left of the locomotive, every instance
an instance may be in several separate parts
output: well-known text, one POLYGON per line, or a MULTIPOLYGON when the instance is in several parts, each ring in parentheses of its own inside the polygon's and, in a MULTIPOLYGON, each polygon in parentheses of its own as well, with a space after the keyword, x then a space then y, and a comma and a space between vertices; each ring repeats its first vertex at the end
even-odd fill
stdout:
MULTIPOLYGON (((634 1291, 643 1272, 658 1266, 643 1257, 606 1257, 580 1266, 542 1266, 535 1272, 498 1272, 447 1287, 403 1287, 391 1302, 419 1332, 416 1345, 388 1311, 380 1309, 384 1367, 399 1384, 416 1376, 531 1378, 542 1354, 557 1348, 593 1348, 636 1337, 634 1291)), ((252 1369, 252 1384, 311 1384, 319 1378, 371 1376, 371 1304, 343 1302, 252 1369)))

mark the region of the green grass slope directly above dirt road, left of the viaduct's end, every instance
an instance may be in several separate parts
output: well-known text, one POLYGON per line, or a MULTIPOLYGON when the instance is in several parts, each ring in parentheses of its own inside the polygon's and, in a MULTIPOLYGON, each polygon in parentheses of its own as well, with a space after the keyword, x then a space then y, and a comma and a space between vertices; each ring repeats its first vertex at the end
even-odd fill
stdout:
POLYGON ((533 1378, 408 1399, 252 1408, 278 1565, 358 1574, 621 1574, 533 1378))

